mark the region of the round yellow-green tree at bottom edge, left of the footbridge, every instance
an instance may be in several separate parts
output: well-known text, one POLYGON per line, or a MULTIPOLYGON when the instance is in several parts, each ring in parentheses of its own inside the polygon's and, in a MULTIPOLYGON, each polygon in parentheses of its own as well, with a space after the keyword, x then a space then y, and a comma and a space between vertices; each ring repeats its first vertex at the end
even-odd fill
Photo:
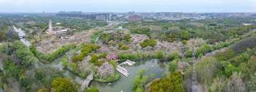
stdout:
POLYGON ((75 88, 72 85, 72 82, 68 79, 56 77, 52 81, 52 88, 55 88, 57 92, 75 92, 75 88))

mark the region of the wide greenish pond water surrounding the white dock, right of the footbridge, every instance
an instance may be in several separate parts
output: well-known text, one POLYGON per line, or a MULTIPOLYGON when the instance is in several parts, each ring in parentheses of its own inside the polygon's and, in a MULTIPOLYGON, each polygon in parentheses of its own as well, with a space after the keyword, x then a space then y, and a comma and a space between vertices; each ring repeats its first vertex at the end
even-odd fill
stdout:
POLYGON ((125 68, 129 76, 125 77, 121 74, 121 78, 118 81, 111 82, 111 85, 108 86, 108 82, 90 82, 89 86, 98 88, 101 92, 131 92, 132 91, 132 81, 135 76, 138 76, 140 69, 145 69, 145 76, 148 76, 150 80, 151 74, 154 74, 155 78, 162 78, 162 74, 165 71, 165 67, 169 62, 159 62, 157 59, 147 59, 147 60, 138 60, 135 61, 136 64, 132 65, 122 65, 121 67, 125 68), (154 66, 151 68, 151 66, 154 66))

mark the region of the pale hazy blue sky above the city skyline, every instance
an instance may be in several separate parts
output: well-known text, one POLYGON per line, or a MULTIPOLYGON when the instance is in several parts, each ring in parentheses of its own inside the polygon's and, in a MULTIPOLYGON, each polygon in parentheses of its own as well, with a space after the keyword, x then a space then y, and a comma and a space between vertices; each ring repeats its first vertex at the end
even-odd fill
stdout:
POLYGON ((0 12, 256 12, 256 0, 0 0, 0 12))

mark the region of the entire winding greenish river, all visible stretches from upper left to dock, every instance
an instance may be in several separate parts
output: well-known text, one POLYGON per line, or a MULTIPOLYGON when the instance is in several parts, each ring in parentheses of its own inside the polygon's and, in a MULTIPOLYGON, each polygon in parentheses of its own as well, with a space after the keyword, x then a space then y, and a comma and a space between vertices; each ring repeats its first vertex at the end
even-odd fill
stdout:
MULTIPOLYGON (((25 36, 24 31, 21 29, 17 29, 13 26, 16 32, 19 32, 19 36, 25 36)), ((29 41, 26 41, 26 39, 20 39, 22 43, 26 44, 26 46, 31 45, 29 41)), ((70 61, 72 56, 74 56, 74 50, 70 50, 66 53, 66 55, 69 56, 68 60, 70 61)), ((66 55, 61 56, 60 58, 54 60, 53 62, 49 64, 45 64, 42 62, 37 62, 36 67, 57 67, 61 70, 65 70, 65 76, 69 77, 72 80, 76 80, 77 82, 84 81, 84 77, 78 76, 77 74, 71 72, 70 70, 65 69, 63 66, 61 66, 61 58, 65 58, 66 55)), ((145 76, 148 76, 148 80, 150 80, 151 74, 154 74, 155 78, 162 78, 162 74, 165 71, 166 65, 168 65, 169 62, 159 62, 157 59, 147 59, 147 60, 138 60, 135 61, 136 64, 132 65, 131 67, 129 65, 122 65, 121 67, 124 67, 127 69, 129 76, 125 77, 121 74, 121 78, 118 81, 111 82, 111 85, 108 86, 108 82, 97 82, 97 81, 91 81, 89 86, 98 88, 100 92, 130 92, 132 91, 132 81, 135 76, 138 76, 140 69, 145 69, 145 76), (151 68, 151 66, 154 66, 151 68)))

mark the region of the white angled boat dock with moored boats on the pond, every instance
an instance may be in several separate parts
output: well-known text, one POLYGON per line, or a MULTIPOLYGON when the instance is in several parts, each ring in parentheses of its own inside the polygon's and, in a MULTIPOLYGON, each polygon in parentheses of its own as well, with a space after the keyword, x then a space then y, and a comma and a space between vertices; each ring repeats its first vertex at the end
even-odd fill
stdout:
POLYGON ((132 62, 132 61, 130 61, 130 60, 127 60, 126 62, 123 62, 123 63, 120 63, 119 65, 117 65, 117 67, 116 67, 116 70, 118 71, 118 72, 120 72, 121 74, 123 74, 125 77, 128 77, 128 75, 129 75, 129 73, 128 73, 128 71, 126 70, 126 69, 124 69, 123 67, 120 67, 120 65, 126 65, 126 64, 128 64, 129 66, 132 66, 133 64, 135 64, 135 62, 132 62))

